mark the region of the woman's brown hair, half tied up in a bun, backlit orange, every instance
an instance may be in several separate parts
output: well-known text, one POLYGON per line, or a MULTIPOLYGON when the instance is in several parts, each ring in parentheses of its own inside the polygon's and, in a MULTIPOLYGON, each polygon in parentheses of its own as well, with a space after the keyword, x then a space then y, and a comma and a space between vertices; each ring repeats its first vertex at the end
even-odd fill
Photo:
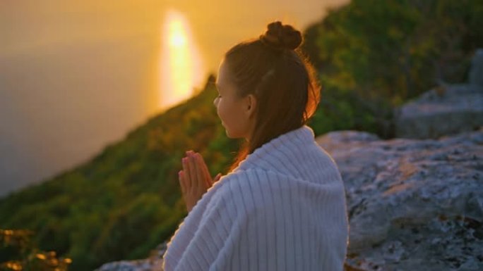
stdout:
POLYGON ((237 95, 256 97, 255 125, 229 171, 271 139, 295 130, 314 115, 321 96, 316 71, 299 49, 302 34, 280 21, 268 24, 258 39, 225 53, 225 64, 237 95))

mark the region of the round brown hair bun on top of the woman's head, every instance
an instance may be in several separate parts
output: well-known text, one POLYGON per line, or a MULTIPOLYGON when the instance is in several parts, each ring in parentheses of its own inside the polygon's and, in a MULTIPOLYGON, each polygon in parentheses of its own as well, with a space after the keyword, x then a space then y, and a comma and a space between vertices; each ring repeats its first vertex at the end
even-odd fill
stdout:
POLYGON ((268 24, 268 30, 260 35, 263 44, 275 49, 296 49, 302 43, 302 34, 292 25, 282 25, 280 21, 268 24))

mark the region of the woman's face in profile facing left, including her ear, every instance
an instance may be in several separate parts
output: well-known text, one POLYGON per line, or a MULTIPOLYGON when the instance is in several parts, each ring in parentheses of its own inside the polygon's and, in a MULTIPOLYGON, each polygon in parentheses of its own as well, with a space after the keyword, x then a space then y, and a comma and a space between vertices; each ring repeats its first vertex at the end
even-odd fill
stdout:
POLYGON ((225 127, 227 137, 249 140, 254 125, 254 96, 249 94, 244 98, 237 96, 236 89, 230 81, 229 70, 225 61, 220 63, 216 87, 219 96, 213 103, 217 108, 217 115, 225 127))

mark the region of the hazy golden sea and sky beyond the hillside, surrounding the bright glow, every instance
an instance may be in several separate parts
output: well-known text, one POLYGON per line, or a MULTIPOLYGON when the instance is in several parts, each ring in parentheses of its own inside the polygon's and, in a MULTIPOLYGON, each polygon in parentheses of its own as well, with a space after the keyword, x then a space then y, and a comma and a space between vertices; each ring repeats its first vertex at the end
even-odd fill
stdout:
POLYGON ((0 196, 87 162, 160 112, 168 8, 186 15, 205 77, 273 20, 303 30, 346 2, 0 1, 0 196))

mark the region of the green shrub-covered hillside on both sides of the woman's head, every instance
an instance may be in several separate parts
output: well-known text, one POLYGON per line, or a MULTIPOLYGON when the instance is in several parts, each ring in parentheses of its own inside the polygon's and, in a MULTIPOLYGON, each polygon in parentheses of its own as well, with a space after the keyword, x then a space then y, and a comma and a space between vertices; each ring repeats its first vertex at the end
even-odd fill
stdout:
MULTIPOLYGON (((473 0, 353 0, 330 11, 304 30, 302 49, 323 87, 309 125, 316 135, 390 138, 394 106, 439 81, 466 80, 481 25, 483 2, 473 0)), ((184 151, 200 152, 215 175, 227 173, 239 146, 216 115, 214 80, 87 163, 1 198, 0 229, 32 230, 36 246, 71 258, 74 271, 146 258, 186 215, 177 179, 184 151)), ((0 263, 14 257, 0 247, 0 263)))

